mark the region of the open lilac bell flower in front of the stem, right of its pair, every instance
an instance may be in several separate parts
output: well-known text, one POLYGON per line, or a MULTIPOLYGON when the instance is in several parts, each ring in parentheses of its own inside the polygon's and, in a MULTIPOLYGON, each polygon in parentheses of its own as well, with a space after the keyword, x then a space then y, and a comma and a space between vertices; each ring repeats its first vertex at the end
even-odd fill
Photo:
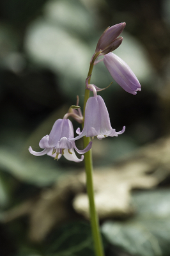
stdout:
POLYGON ((75 137, 73 140, 79 140, 79 138, 83 136, 97 136, 99 140, 102 140, 102 138, 107 136, 118 136, 124 131, 125 126, 120 132, 116 132, 115 129, 112 129, 105 102, 101 96, 97 95, 89 97, 85 109, 84 128, 82 132, 80 132, 80 128, 77 129, 76 132, 79 136, 75 137))

